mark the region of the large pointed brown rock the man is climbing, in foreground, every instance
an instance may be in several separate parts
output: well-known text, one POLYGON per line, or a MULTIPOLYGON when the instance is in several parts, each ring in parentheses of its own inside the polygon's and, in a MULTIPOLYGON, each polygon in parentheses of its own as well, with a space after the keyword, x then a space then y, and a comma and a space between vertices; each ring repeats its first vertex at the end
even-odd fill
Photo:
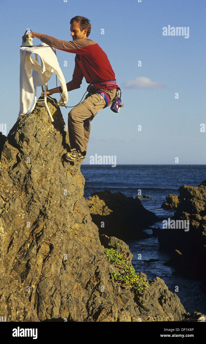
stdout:
POLYGON ((121 241, 103 236, 101 245, 80 163, 63 159, 69 142, 62 114, 55 99, 47 102, 53 124, 38 104, 1 141, 0 315, 12 322, 186 319, 158 278, 142 296, 113 283, 103 244, 121 241))

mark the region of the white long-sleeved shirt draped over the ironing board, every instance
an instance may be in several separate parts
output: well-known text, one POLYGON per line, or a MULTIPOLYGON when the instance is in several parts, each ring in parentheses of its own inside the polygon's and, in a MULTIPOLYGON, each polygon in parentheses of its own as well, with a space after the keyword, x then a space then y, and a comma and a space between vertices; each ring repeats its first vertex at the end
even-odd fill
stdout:
POLYGON ((59 67, 53 47, 42 43, 34 47, 20 49, 20 111, 19 116, 27 114, 34 99, 34 87, 43 86, 48 82, 53 72, 56 73, 62 88, 62 99, 57 105, 64 105, 68 101, 68 92, 64 75, 59 67), (31 54, 40 57, 41 65, 31 54), (31 72, 31 69, 33 70, 31 72))

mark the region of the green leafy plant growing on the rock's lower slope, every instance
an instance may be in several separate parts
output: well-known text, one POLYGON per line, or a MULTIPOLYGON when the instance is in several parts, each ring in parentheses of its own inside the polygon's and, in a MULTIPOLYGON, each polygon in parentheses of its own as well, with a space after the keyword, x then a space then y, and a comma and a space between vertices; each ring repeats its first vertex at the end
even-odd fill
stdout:
MULTIPOLYGON (((110 246, 115 245, 118 246, 118 244, 110 244, 110 246)), ((148 289, 148 283, 140 277, 139 273, 136 274, 133 267, 128 265, 127 257, 123 257, 121 253, 113 248, 106 248, 105 253, 108 261, 113 262, 120 270, 120 273, 111 271, 111 278, 113 278, 113 280, 130 287, 130 289, 136 289, 140 293, 148 289)))

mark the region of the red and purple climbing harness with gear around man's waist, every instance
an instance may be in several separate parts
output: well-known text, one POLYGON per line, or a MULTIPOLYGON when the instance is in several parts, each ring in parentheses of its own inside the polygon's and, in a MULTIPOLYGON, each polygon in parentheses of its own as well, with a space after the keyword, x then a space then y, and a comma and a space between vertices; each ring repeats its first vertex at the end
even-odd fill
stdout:
MULTIPOLYGON (((91 85, 93 85, 93 87, 99 87, 99 85, 102 85, 102 87, 106 87, 106 89, 108 89, 110 86, 114 86, 117 90, 116 92, 116 96, 111 104, 111 107, 110 109, 113 111, 113 112, 116 112, 118 113, 119 112, 119 109, 120 107, 123 107, 123 104, 122 104, 122 101, 121 101, 121 88, 119 86, 117 86, 117 83, 116 83, 116 79, 115 80, 108 80, 108 81, 103 81, 103 82, 97 82, 97 83, 93 83, 93 84, 89 84, 89 86, 87 87, 87 92, 89 92, 89 89, 90 87, 92 87, 91 85)), ((105 102, 106 102, 106 105, 104 108, 106 108, 109 103, 110 103, 110 98, 108 96, 108 94, 104 91, 104 90, 99 90, 97 92, 94 92, 95 94, 96 93, 99 93, 101 94, 102 97, 104 97, 105 99, 105 102)))

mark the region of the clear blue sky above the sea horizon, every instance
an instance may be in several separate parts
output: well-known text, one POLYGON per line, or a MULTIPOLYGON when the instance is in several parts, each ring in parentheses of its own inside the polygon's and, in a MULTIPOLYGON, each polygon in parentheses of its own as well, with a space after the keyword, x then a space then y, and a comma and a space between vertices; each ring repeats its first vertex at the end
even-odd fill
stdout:
MULTIPOLYGON (((174 164, 176 157, 179 164, 206 164, 206 132, 200 132, 200 124, 206 125, 203 0, 2 2, 0 123, 7 124, 7 134, 19 113, 22 35, 30 28, 70 41, 69 21, 75 15, 90 19, 89 38, 106 52, 122 89, 124 105, 119 114, 110 107, 97 113, 91 122, 84 164, 95 154, 116 155, 117 164, 174 164), (168 25, 189 28, 189 37, 163 36, 163 27, 168 25)), ((34 38, 33 44, 40 41, 34 38)), ((75 54, 60 50, 56 53, 68 82, 75 54)), ((55 86, 53 75, 48 88, 55 86)), ((67 106, 77 104, 86 87, 83 79, 79 89, 68 93, 67 106)), ((38 92, 40 96, 41 87, 38 92)), ((59 100, 58 94, 53 97, 59 100)), ((61 110, 67 124, 68 110, 61 110)))

